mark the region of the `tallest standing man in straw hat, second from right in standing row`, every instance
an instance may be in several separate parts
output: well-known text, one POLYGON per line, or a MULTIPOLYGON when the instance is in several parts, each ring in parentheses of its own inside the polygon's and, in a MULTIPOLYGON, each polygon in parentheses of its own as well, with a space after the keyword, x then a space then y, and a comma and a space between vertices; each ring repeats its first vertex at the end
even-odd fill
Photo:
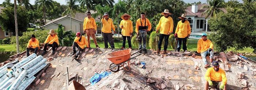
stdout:
POLYGON ((173 19, 172 17, 169 16, 169 15, 172 15, 172 13, 169 13, 168 9, 165 9, 165 11, 162 12, 161 14, 164 16, 162 16, 161 19, 159 20, 159 23, 157 25, 157 30, 156 30, 156 32, 158 33, 158 30, 160 29, 157 53, 159 54, 161 50, 163 38, 165 38, 165 45, 163 46, 163 54, 166 54, 168 39, 170 34, 173 32, 173 19))

